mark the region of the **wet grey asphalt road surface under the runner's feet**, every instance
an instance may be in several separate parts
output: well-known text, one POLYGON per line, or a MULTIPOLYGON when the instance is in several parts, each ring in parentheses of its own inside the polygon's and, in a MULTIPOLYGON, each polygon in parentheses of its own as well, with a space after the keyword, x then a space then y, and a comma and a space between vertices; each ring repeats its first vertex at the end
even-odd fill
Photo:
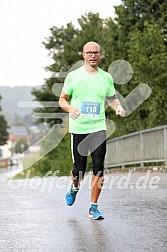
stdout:
POLYGON ((1 179, 0 251, 167 251, 167 173, 107 174, 101 221, 88 218, 90 181, 67 207, 69 177, 1 179))

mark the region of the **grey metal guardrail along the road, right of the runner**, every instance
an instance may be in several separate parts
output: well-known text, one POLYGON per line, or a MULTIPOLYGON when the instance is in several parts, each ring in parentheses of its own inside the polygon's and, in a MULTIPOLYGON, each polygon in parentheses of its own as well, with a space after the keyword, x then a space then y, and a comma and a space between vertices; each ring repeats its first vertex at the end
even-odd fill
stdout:
POLYGON ((167 165, 167 125, 107 141, 106 168, 154 162, 167 165))

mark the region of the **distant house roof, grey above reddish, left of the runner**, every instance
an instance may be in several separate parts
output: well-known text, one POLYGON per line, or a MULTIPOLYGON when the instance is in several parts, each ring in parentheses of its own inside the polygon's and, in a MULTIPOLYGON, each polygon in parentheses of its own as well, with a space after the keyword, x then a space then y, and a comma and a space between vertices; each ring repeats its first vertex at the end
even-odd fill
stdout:
POLYGON ((29 133, 24 126, 11 126, 9 131, 9 140, 17 141, 20 139, 28 139, 29 133))

